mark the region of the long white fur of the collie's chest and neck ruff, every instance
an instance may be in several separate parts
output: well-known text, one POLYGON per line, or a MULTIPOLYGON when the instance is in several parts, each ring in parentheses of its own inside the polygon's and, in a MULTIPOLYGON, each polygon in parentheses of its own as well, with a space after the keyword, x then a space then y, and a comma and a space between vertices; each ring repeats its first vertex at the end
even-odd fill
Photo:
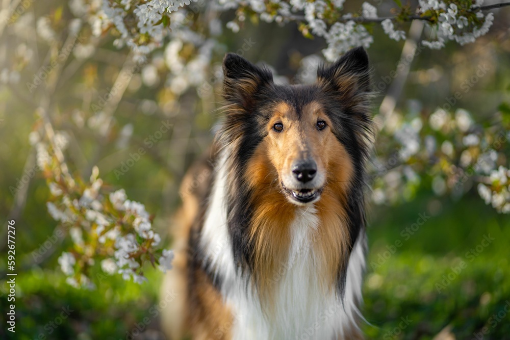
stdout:
POLYGON ((217 165, 216 179, 200 235, 200 248, 213 279, 233 315, 232 339, 337 339, 356 326, 361 318, 356 307, 361 302, 365 268, 365 235, 361 232, 348 261, 343 300, 335 287, 324 292, 311 244, 320 227, 312 205, 296 209, 290 224, 291 242, 287 263, 274 276, 272 308, 261 304, 251 278, 236 269, 227 226, 227 170, 225 158, 217 165))

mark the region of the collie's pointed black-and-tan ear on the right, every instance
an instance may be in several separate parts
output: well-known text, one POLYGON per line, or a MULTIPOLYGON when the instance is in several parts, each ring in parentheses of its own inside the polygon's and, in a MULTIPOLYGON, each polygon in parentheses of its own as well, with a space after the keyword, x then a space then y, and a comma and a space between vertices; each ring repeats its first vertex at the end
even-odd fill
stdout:
POLYGON ((364 104, 370 93, 368 55, 363 47, 349 50, 332 66, 317 70, 317 81, 326 91, 334 91, 346 107, 364 104))

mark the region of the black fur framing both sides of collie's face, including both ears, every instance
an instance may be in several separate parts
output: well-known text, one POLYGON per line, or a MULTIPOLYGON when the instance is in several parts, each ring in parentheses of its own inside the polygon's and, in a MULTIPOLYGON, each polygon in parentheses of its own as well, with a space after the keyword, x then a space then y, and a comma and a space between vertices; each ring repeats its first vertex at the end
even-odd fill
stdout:
MULTIPOLYGON (((251 221, 250 189, 241 174, 257 145, 267 135, 264 128, 269 109, 284 101, 300 112, 311 101, 322 104, 334 122, 331 126, 355 165, 348 199, 350 249, 365 226, 364 180, 365 163, 373 142, 370 109, 370 76, 368 56, 363 47, 348 51, 331 66, 322 65, 313 85, 275 85, 271 72, 244 58, 227 54, 223 60, 224 120, 216 143, 228 151, 227 214, 228 230, 233 243, 234 258, 243 273, 253 268, 253 244, 249 240, 251 221)), ((349 250, 350 251, 350 250, 349 250)), ((345 254, 348 261, 349 254, 345 254)), ((347 266, 338 273, 342 292, 347 266)))

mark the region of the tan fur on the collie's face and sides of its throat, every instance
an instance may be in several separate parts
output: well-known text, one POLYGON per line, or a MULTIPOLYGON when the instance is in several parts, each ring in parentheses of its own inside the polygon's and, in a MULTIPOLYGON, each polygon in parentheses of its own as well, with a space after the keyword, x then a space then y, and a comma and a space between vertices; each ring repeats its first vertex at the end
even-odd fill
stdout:
POLYGON ((251 158, 246 179, 254 190, 257 210, 253 214, 251 237, 256 245, 256 279, 261 297, 271 301, 275 285, 273 277, 287 261, 290 244, 289 224, 295 218, 296 205, 281 192, 279 178, 291 172, 295 159, 311 156, 318 171, 326 172, 326 185, 321 199, 315 203, 320 226, 314 251, 320 254, 319 277, 324 290, 335 287, 342 256, 347 254, 349 233, 346 218, 346 192, 353 174, 352 162, 342 144, 329 128, 319 131, 317 120, 329 120, 317 102, 303 108, 301 118, 286 103, 275 106, 269 120, 268 136, 251 158), (285 133, 271 131, 282 122, 285 133))

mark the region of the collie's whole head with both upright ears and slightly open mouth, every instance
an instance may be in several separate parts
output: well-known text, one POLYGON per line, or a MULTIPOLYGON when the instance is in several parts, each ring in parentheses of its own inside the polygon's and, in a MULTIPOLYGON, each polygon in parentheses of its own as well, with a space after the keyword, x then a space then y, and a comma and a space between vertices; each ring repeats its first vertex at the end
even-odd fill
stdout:
POLYGON ((271 72, 227 54, 222 138, 252 187, 277 188, 296 205, 317 202, 362 175, 371 119, 363 48, 322 66, 313 85, 276 85, 271 72))

